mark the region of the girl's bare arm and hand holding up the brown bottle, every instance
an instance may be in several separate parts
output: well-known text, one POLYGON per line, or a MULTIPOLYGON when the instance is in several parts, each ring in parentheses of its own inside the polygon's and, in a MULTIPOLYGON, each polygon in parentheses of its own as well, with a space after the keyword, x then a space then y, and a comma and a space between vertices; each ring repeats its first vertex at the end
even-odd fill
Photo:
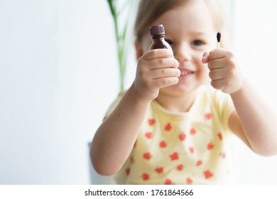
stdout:
POLYGON ((133 85, 94 136, 90 157, 102 175, 119 171, 134 146, 151 100, 161 87, 178 82, 178 61, 169 50, 151 50, 138 60, 133 85))

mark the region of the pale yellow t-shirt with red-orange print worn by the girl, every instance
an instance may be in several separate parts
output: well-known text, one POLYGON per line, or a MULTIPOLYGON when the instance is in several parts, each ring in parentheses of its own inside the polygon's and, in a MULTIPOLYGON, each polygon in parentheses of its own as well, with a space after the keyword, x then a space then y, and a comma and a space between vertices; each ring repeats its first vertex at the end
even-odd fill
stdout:
POLYGON ((153 100, 116 183, 231 183, 228 119, 233 111, 229 95, 207 86, 199 88, 189 112, 170 112, 153 100))

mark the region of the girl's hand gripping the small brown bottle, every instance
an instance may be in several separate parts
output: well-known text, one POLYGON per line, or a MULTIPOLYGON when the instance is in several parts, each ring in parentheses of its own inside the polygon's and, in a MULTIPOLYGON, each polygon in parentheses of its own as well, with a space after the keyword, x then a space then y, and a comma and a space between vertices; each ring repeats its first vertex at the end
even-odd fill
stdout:
POLYGON ((146 100, 158 97, 162 87, 178 83, 180 70, 178 60, 167 49, 149 50, 138 60, 134 90, 146 100))

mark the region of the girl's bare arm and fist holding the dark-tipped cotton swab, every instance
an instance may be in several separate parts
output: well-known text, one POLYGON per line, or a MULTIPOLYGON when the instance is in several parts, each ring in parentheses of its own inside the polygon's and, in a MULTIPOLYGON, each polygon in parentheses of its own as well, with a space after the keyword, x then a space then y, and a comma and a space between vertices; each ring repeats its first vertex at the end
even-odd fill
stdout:
POLYGON ((234 55, 216 49, 205 53, 212 87, 231 95, 236 111, 229 117, 229 127, 253 151, 263 156, 277 154, 277 117, 254 88, 241 76, 234 55))

